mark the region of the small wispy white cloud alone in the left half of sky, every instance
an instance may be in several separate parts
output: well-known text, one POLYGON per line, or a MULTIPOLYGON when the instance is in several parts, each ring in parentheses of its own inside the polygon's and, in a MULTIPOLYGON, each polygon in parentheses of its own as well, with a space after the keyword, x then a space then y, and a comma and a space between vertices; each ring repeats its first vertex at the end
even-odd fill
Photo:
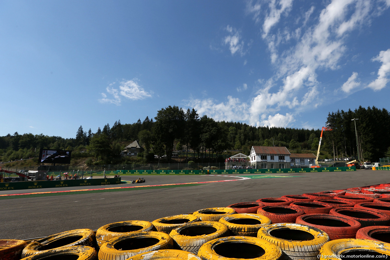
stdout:
POLYGON ((114 83, 111 83, 106 88, 108 94, 112 98, 108 98, 106 93, 101 93, 102 99, 99 99, 100 103, 112 103, 117 106, 121 105, 122 97, 130 100, 140 100, 147 97, 151 97, 151 92, 146 92, 138 83, 134 80, 121 81, 119 84, 119 90, 113 88, 114 83))

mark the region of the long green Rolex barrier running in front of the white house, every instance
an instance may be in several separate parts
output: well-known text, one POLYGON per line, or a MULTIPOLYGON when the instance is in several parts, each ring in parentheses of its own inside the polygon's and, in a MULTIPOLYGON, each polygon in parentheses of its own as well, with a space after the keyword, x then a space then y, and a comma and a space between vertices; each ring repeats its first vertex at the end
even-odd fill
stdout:
POLYGON ((351 167, 327 167, 327 168, 285 168, 285 169, 245 169, 245 170, 117 170, 116 174, 161 174, 161 175, 184 175, 184 174, 256 174, 256 173, 304 173, 304 172, 352 172, 351 167))

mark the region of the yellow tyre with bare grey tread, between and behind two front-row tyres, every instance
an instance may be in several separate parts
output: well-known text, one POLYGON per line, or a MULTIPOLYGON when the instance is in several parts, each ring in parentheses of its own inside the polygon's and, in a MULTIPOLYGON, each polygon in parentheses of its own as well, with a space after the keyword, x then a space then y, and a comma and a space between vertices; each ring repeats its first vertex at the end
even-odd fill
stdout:
POLYGON ((229 236, 227 226, 216 221, 199 221, 173 229, 169 235, 178 249, 194 254, 202 244, 220 237, 229 236))

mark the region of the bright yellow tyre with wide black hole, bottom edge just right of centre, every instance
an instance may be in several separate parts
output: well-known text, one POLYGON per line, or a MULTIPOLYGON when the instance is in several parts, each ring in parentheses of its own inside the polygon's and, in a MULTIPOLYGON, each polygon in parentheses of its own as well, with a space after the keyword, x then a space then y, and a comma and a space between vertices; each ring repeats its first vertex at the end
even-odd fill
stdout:
POLYGON ((202 260, 282 260, 282 250, 256 237, 222 237, 205 243, 198 256, 202 260))

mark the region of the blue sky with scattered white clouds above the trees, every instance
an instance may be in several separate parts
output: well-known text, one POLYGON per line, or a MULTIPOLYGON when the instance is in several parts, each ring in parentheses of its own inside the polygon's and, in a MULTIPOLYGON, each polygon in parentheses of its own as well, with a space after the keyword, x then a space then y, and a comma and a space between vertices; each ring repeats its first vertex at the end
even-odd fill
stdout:
POLYGON ((0 136, 195 108, 215 120, 321 128, 389 108, 390 0, 0 2, 0 136))

